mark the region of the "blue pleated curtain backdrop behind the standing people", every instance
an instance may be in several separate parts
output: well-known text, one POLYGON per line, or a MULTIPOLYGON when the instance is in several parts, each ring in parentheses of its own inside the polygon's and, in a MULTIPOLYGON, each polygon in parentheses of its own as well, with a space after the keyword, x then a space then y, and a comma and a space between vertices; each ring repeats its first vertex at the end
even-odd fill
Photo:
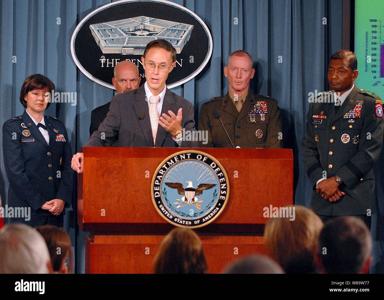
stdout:
MULTIPOLYGON (((91 110, 111 100, 114 92, 83 75, 74 64, 70 39, 88 13, 108 0, 3 0, 0 2, 0 125, 22 114, 18 97, 23 80, 31 74, 49 77, 59 92, 77 92, 77 105, 52 103, 46 115, 65 123, 72 151, 89 138, 91 110), (56 24, 61 18, 61 25, 56 24), (12 62, 15 56, 17 61, 12 62)), ((283 118, 283 141, 295 156, 295 203, 310 201, 311 187, 303 168, 300 143, 308 111, 308 93, 328 89, 326 70, 330 55, 341 49, 342 0, 174 0, 194 11, 209 27, 214 48, 209 64, 194 79, 173 89, 195 105, 223 95, 228 82, 223 67, 232 51, 244 49, 254 61, 250 89, 278 99, 283 118), (235 24, 234 18, 238 18, 235 24), (326 18, 326 24, 323 24, 326 18), (281 56, 282 62, 278 59, 281 56)), ((369 89, 369 87, 362 87, 369 89)), ((0 132, 0 139, 2 139, 0 132)), ((2 149, 1 153, 3 153, 2 149)), ((0 192, 7 197, 3 160, 0 192)), ((283 170, 282 170, 283 172, 283 170)), ((381 213, 374 216, 374 261, 371 272, 383 273, 384 174, 376 166, 381 213), (380 226, 381 227, 380 227, 380 226)), ((278 184, 278 182, 276 182, 278 184)), ((102 191, 101 191, 102 192, 102 191)), ((3 201, 4 204, 6 201, 3 201)), ((76 198, 67 211, 65 228, 76 246, 76 272, 84 272, 84 236, 76 223, 76 198)))

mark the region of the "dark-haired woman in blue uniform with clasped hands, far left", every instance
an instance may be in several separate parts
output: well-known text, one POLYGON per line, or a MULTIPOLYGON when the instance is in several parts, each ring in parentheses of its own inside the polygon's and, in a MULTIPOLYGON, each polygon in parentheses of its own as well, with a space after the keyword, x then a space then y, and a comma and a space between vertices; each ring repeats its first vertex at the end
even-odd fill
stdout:
POLYGON ((3 125, 8 211, 9 207, 30 209, 30 220, 17 215, 9 218, 13 223, 62 227, 64 208, 71 204, 72 154, 67 131, 55 117, 43 115, 53 90, 55 85, 43 75, 26 78, 20 92, 26 110, 3 125))

